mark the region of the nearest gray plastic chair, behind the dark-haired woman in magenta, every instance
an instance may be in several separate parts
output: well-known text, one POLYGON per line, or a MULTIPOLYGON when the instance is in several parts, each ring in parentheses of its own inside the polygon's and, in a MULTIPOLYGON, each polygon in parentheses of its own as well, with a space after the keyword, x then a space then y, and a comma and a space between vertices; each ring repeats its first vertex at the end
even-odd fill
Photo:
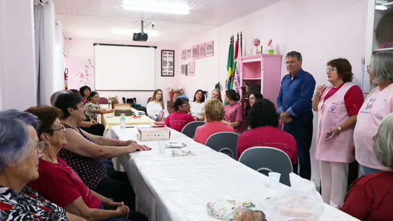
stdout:
POLYGON ((291 186, 289 173, 293 172, 291 159, 277 148, 256 146, 245 150, 239 162, 269 176, 269 172, 281 173, 280 183, 291 186))

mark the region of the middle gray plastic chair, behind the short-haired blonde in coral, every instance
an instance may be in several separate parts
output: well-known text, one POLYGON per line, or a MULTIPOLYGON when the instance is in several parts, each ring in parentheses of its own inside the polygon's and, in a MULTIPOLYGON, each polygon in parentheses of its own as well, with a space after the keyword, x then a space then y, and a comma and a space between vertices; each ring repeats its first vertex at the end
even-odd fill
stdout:
POLYGON ((219 132, 207 138, 205 145, 236 160, 237 138, 239 135, 236 133, 219 132))

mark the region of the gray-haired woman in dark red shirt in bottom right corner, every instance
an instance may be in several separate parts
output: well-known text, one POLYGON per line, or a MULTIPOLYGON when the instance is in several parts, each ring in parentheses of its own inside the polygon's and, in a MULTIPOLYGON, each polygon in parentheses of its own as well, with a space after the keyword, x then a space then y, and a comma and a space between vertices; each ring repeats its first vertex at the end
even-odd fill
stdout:
POLYGON ((372 138, 372 149, 381 165, 389 169, 366 174, 352 183, 341 211, 361 221, 393 220, 393 113, 386 116, 372 138))

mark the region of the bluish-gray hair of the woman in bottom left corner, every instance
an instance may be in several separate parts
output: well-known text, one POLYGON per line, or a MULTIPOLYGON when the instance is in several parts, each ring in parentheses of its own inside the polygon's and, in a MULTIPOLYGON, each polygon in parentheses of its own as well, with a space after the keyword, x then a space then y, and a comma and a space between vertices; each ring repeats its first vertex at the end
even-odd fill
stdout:
POLYGON ((41 121, 31 113, 8 110, 0 112, 0 173, 7 164, 18 165, 26 159, 30 149, 27 125, 38 130, 41 121))

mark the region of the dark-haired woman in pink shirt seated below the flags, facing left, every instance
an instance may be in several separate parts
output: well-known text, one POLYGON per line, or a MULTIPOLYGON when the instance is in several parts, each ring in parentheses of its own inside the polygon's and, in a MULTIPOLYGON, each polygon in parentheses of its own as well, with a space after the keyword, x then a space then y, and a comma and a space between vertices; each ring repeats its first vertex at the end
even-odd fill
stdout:
POLYGON ((235 129, 235 133, 240 132, 240 124, 243 120, 243 108, 242 106, 237 103, 240 100, 239 93, 236 93, 235 90, 229 89, 225 91, 225 101, 229 103, 225 106, 225 116, 222 123, 233 127, 235 129))

